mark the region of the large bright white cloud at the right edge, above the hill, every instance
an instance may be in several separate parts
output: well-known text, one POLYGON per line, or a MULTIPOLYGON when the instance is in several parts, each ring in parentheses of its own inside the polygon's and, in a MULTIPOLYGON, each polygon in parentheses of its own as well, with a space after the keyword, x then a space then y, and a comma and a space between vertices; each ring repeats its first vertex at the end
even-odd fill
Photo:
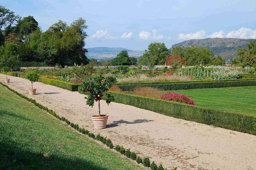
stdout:
POLYGON ((227 35, 227 38, 256 38, 256 30, 251 28, 240 28, 239 30, 230 31, 227 35))

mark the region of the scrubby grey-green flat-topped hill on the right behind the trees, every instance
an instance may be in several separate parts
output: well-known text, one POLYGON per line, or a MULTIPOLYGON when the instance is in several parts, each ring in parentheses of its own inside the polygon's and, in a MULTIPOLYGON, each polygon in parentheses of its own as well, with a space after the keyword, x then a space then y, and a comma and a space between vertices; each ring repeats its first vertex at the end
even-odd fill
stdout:
POLYGON ((247 48, 246 43, 255 39, 239 39, 239 38, 206 38, 206 39, 193 39, 183 41, 172 45, 180 46, 182 48, 189 46, 206 47, 213 51, 215 57, 220 54, 226 60, 236 57, 238 48, 247 48))

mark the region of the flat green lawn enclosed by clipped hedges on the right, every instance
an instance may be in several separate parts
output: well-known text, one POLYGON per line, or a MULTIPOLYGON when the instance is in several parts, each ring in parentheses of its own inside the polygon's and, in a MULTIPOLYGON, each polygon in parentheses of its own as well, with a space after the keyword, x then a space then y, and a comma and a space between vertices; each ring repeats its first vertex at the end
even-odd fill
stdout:
MULTIPOLYGON (((160 94, 163 92, 167 91, 161 91, 160 94)), ((256 86, 171 90, 171 92, 192 97, 196 105, 256 115, 256 86)))

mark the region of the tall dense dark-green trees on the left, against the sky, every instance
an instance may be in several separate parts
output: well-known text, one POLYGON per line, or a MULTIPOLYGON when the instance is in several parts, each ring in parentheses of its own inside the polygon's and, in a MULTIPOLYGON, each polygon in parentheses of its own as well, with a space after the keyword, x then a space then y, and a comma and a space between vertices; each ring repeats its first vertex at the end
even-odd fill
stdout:
POLYGON ((33 16, 21 18, 0 5, 0 66, 15 61, 87 64, 87 27, 82 18, 70 25, 60 20, 43 32, 33 16))

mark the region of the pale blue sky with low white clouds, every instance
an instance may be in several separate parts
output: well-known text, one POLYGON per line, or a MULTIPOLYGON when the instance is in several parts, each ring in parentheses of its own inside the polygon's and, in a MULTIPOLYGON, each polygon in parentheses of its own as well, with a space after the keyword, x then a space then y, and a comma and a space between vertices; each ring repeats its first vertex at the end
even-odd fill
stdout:
POLYGON ((1 0, 21 17, 33 16, 42 31, 62 20, 86 20, 85 47, 145 50, 189 39, 256 39, 255 0, 1 0))

